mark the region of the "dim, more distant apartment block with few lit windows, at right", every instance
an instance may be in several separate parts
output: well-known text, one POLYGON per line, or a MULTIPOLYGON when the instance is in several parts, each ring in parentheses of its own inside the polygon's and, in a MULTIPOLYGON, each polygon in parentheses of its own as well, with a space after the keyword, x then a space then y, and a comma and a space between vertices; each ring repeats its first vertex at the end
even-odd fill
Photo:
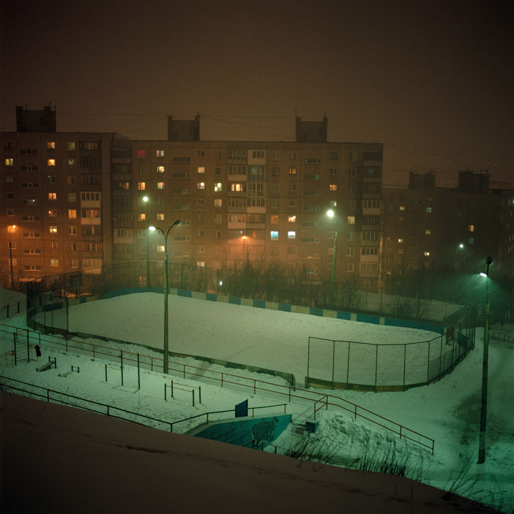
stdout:
POLYGON ((460 172, 454 189, 436 188, 435 173, 411 173, 408 186, 384 186, 384 272, 425 267, 480 272, 487 256, 511 271, 514 191, 489 175, 460 172))

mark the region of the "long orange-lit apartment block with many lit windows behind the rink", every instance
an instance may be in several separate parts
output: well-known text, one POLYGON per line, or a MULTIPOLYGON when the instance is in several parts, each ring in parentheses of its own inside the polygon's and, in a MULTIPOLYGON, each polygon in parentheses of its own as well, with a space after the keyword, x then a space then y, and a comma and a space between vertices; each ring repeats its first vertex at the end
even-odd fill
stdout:
POLYGON ((297 118, 291 142, 201 141, 199 117, 170 116, 166 141, 20 128, 1 145, 1 262, 15 280, 82 271, 94 282, 98 266, 140 262, 144 284, 144 263, 166 247, 170 261, 280 261, 318 278, 337 234, 337 280, 378 287, 383 145, 327 142, 326 117, 297 118), (177 219, 167 244, 148 230, 177 219))

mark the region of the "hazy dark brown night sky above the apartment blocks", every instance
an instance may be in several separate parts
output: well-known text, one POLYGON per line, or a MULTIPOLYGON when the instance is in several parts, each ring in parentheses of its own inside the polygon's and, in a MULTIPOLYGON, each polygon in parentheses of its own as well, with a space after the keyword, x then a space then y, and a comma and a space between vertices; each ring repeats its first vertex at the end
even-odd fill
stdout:
POLYGON ((2 131, 57 105, 58 131, 384 143, 384 182, 488 170, 514 182, 514 3, 505 0, 4 2, 2 131))

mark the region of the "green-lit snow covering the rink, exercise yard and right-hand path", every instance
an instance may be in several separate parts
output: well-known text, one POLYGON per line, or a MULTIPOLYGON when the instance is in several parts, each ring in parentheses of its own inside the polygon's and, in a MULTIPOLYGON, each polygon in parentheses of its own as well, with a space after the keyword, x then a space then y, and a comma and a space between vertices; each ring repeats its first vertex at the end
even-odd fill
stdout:
MULTIPOLYGON (((0 295, 0 298, 3 297, 0 295)), ((0 305, 5 303, 0 301, 0 305)), ((144 346, 162 349, 162 305, 162 296, 156 293, 139 293, 87 302, 70 307, 69 328, 72 331, 96 333, 138 343, 143 347, 113 341, 84 340, 89 345, 122 348, 127 358, 133 352, 154 357, 158 362, 158 351, 153 352, 144 346)), ((170 351, 293 373, 299 387, 307 370, 309 336, 386 344, 425 341, 437 336, 435 333, 415 329, 377 326, 177 296, 169 297, 169 307, 170 351)), ((57 321, 58 312, 53 315, 57 321)), ((26 328, 25 314, 3 320, 3 324, 6 323, 11 327, 26 328)), ((3 331, 12 331, 12 328, 6 326, 0 328, 3 331)), ((514 335, 514 327, 510 326, 498 329, 492 327, 491 333, 495 331, 514 335)), ((361 417, 355 419, 346 411, 333 408, 317 413, 317 418, 320 419, 319 429, 311 437, 319 439, 321 445, 329 444, 329 451, 334 454, 334 464, 348 465, 356 458, 362 458, 363 449, 368 455, 376 455, 389 445, 390 448, 394 447, 400 461, 405 460, 408 463, 411 475, 419 481, 448 489, 458 473, 465 468, 466 478, 460 482, 462 490, 466 489, 466 485, 472 484, 472 487, 470 485, 465 490, 467 497, 484 501, 491 501, 493 497, 511 500, 514 498, 514 388, 511 371, 514 344, 490 340, 486 462, 479 465, 476 460, 482 386, 482 333, 483 329, 479 326, 476 331, 475 350, 450 375, 430 386, 394 393, 312 390, 313 397, 321 396, 319 393, 339 396, 435 439, 434 456, 418 445, 406 442, 405 439, 400 440, 391 432, 370 424, 361 417), (491 496, 484 498, 484 491, 486 496, 489 492, 491 496)), ((37 364, 30 362, 19 363, 15 367, 6 366, 5 357, 2 356, 2 374, 168 422, 204 412, 233 409, 236 403, 246 398, 249 399, 251 407, 287 402, 285 396, 263 391, 256 391, 254 394, 253 389, 242 385, 230 384, 230 387, 222 389, 218 381, 209 380, 208 377, 218 376, 215 372, 223 371, 246 377, 231 381, 252 384, 253 379, 259 379, 276 384, 277 389, 287 385, 284 379, 238 369, 227 370, 193 359, 172 360, 201 368, 197 373, 204 377, 197 381, 191 376, 184 378, 172 373, 173 376, 166 377, 159 372, 144 369, 140 374, 141 388, 138 389, 137 371, 134 366, 127 365, 124 366, 124 386, 121 386, 121 373, 113 369, 119 368, 119 364, 113 360, 105 361, 98 354, 92 358, 87 352, 76 353, 77 350, 66 353, 62 346, 50 342, 62 343, 62 339, 49 335, 41 337, 43 356, 37 364), (57 359, 57 369, 36 372, 35 368, 46 362, 48 356, 57 359), (107 370, 107 382, 106 363, 111 366, 107 370), (79 366, 80 373, 59 376, 60 373, 70 371, 72 365, 74 368, 79 366), (176 390, 175 398, 164 401, 164 383, 170 383, 170 379, 175 384, 181 384, 176 387, 182 389, 176 390), (198 386, 201 387, 201 404, 196 401, 192 407, 191 390, 198 386)), ((0 332, 0 354, 10 350, 12 335, 0 332)), ((125 359, 124 363, 127 364, 125 359)), ((394 362, 388 365, 394 365, 394 362)), ((178 366, 174 366, 178 369, 178 366)), ((273 388, 270 386, 269 389, 273 388)), ((275 442, 280 447, 290 448, 294 445, 298 427, 306 419, 313 417, 313 402, 293 400, 287 405, 287 412, 293 416, 293 424, 275 442)), ((263 413, 265 412, 266 410, 263 413)), ((276 409, 270 409, 270 412, 276 412, 276 409)), ((230 417, 229 414, 218 416, 230 417)), ((134 416, 134 420, 141 421, 137 416, 134 416)), ((202 420, 205 418, 176 424, 173 431, 185 432, 202 420)), ((159 424, 154 423, 154 426, 157 425, 159 424)), ((169 427, 165 428, 162 424, 159 428, 169 430, 169 427)), ((149 430, 143 427, 141 429, 149 430)), ((278 458, 271 455, 269 457, 278 458)), ((370 484, 365 487, 369 489, 370 484)), ((414 510, 418 511, 425 510, 414 510)))

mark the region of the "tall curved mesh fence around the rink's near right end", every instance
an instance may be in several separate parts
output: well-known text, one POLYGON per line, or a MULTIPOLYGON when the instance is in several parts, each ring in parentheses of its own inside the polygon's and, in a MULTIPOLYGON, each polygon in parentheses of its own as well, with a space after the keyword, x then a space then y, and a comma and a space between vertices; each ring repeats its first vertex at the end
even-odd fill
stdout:
POLYGON ((405 391, 450 373, 473 349, 467 321, 429 341, 377 344, 309 337, 305 387, 405 391))

